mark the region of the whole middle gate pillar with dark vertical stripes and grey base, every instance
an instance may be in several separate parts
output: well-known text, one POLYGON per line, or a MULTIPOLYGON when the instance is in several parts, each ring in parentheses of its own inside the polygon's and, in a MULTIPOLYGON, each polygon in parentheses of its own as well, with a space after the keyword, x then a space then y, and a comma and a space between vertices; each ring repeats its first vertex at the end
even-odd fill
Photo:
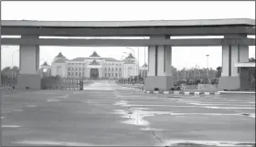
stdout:
MULTIPOLYGON (((150 39, 170 39, 170 36, 155 36, 150 39)), ((172 76, 172 47, 148 47, 148 74, 145 79, 145 90, 170 90, 174 88, 172 76)))

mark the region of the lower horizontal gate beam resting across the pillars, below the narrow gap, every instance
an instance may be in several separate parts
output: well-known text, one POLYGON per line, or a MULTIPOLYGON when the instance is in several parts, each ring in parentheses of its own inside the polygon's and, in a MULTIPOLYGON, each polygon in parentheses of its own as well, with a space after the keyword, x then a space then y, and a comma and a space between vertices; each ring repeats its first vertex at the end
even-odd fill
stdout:
POLYGON ((61 38, 2 38, 2 44, 69 46, 69 47, 208 47, 222 45, 255 46, 255 38, 193 38, 193 39, 61 39, 61 38))

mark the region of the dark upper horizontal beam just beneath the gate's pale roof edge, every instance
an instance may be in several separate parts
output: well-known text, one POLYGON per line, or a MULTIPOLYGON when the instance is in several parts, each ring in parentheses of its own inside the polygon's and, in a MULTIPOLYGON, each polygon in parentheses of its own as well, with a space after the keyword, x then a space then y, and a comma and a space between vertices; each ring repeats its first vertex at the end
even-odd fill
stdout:
POLYGON ((45 28, 2 26, 2 35, 37 35, 51 37, 149 37, 170 36, 223 36, 232 34, 255 35, 253 26, 208 27, 148 27, 148 28, 45 28))

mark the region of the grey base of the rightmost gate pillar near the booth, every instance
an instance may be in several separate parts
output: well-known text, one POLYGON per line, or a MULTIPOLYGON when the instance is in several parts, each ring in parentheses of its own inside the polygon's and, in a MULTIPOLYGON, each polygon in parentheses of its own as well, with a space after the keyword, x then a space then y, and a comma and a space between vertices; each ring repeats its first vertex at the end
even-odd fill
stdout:
POLYGON ((240 77, 220 77, 218 89, 240 89, 240 77))

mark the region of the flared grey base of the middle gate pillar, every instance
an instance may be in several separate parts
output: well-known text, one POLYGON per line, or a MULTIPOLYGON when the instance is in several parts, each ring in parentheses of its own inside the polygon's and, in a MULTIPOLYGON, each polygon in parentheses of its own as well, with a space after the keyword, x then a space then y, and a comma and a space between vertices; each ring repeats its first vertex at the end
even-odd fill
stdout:
POLYGON ((174 86, 175 78, 173 76, 147 76, 144 82, 144 89, 171 90, 174 86))

